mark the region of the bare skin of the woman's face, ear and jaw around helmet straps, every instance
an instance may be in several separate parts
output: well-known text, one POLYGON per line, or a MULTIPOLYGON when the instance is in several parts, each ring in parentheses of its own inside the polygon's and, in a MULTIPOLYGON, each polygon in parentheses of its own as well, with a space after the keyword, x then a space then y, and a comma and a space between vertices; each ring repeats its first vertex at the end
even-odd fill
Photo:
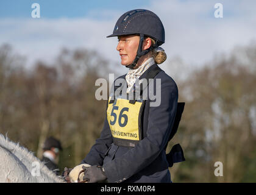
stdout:
MULTIPOLYGON (((130 65, 137 55, 138 45, 140 43, 140 36, 138 35, 123 35, 118 36, 118 45, 116 50, 119 51, 121 57, 121 64, 124 66, 130 65)), ((142 44, 142 50, 148 49, 151 46, 151 38, 145 38, 142 44)), ((137 69, 146 60, 151 57, 151 52, 140 57, 137 65, 133 69, 137 69)))

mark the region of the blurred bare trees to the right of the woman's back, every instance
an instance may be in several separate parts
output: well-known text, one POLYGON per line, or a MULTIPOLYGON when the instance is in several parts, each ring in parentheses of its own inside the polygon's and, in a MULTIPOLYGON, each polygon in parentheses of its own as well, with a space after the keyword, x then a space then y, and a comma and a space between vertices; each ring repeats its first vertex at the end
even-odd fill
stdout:
POLYGON ((254 42, 178 81, 186 105, 172 142, 180 142, 186 161, 170 169, 174 182, 256 182, 255 85, 254 42), (214 174, 216 161, 222 177, 214 174))

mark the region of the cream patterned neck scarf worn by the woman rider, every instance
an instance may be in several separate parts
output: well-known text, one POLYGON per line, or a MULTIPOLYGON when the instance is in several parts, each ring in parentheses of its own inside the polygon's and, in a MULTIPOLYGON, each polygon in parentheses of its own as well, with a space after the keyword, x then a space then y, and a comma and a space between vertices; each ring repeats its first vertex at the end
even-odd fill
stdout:
POLYGON ((126 74, 126 82, 128 85, 127 93, 132 89, 135 81, 140 78, 140 76, 152 65, 154 65, 155 60, 153 57, 150 57, 146 62, 144 62, 141 66, 137 69, 129 69, 128 73, 126 74))

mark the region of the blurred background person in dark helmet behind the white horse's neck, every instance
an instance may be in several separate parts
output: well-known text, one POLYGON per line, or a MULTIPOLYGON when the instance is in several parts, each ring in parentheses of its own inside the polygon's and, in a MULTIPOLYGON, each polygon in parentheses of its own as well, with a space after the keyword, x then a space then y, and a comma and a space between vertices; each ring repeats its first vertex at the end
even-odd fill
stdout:
POLYGON ((50 170, 54 171, 56 175, 60 174, 59 151, 62 151, 62 145, 59 140, 54 137, 49 137, 43 144, 43 157, 41 161, 44 162, 50 170))

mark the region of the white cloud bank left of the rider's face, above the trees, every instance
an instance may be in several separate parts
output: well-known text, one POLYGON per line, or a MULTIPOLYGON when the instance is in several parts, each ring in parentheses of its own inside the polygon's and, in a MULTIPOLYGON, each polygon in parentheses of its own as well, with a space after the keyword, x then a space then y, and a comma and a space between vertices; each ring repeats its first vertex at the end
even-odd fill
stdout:
POLYGON ((102 55, 113 55, 110 47, 115 42, 105 38, 111 34, 113 24, 109 21, 91 19, 2 19, 0 20, 0 43, 10 43, 29 62, 43 59, 52 62, 60 48, 95 49, 102 55))

